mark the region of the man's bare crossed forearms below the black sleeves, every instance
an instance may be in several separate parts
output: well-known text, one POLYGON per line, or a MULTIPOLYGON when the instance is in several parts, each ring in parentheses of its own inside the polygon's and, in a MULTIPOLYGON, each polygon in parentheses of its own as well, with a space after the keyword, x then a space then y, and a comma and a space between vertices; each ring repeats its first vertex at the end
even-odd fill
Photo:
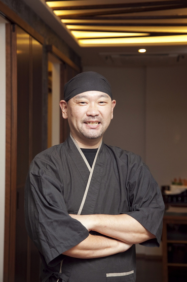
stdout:
POLYGON ((132 244, 155 238, 155 235, 127 214, 70 214, 70 216, 81 222, 88 231, 97 231, 109 238, 90 234, 81 243, 63 253, 69 257, 82 259, 106 257, 125 252, 132 244))

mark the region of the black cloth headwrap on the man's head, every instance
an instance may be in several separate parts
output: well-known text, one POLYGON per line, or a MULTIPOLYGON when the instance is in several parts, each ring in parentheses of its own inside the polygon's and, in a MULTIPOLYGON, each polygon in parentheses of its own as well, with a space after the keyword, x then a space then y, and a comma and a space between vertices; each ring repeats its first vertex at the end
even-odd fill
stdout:
POLYGON ((70 79, 64 85, 64 100, 68 101, 86 91, 104 92, 113 100, 109 82, 104 76, 96 72, 83 72, 70 79))

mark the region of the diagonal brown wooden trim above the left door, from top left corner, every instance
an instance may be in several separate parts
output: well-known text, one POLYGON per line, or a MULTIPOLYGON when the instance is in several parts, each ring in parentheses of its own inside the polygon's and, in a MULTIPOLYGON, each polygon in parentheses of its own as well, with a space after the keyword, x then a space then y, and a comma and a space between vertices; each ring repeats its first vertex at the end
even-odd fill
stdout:
POLYGON ((33 38, 44 44, 44 38, 38 32, 36 32, 27 22, 20 18, 14 11, 12 11, 7 5, 0 1, 0 11, 5 17, 13 23, 18 24, 21 28, 30 34, 33 38))

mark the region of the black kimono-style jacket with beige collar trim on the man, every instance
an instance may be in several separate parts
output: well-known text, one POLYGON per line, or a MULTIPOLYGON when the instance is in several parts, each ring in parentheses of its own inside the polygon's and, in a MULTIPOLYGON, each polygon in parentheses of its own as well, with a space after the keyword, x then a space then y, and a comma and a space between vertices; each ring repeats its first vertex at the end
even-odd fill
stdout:
MULTIPOLYGON (((89 232, 68 214, 80 208, 89 169, 72 139, 36 155, 25 186, 26 229, 43 261, 41 281, 135 281, 135 245, 96 259, 62 255, 89 232), (63 260, 63 263, 60 263, 63 260)), ((164 204, 160 188, 140 156, 102 143, 81 214, 129 214, 156 236, 159 246, 164 204)))

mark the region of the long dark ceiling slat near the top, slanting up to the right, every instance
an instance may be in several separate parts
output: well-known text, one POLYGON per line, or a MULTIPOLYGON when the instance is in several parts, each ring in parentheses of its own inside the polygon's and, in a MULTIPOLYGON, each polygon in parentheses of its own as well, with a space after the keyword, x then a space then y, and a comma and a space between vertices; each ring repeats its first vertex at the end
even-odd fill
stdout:
POLYGON ((74 13, 71 15, 62 15, 59 16, 60 19, 81 19, 83 17, 90 17, 90 16, 100 16, 100 15, 114 15, 114 14, 129 14, 129 13, 141 13, 141 12, 151 12, 151 11, 163 11, 163 10, 172 10, 172 9, 181 9, 187 8, 187 2, 185 5, 178 5, 177 7, 166 6, 166 7, 140 7, 140 8, 132 8, 132 9, 120 9, 120 10, 111 10, 111 11, 97 11, 97 12, 89 12, 89 13, 74 13))

